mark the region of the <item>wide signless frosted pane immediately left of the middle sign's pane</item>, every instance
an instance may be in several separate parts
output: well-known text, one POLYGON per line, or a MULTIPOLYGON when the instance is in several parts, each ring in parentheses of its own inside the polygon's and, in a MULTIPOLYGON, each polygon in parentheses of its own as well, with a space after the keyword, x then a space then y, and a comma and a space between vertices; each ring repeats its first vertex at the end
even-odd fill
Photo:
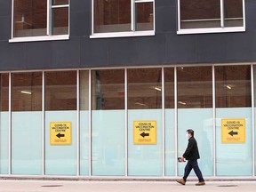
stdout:
POLYGON ((125 175, 124 110, 92 111, 92 175, 125 175))

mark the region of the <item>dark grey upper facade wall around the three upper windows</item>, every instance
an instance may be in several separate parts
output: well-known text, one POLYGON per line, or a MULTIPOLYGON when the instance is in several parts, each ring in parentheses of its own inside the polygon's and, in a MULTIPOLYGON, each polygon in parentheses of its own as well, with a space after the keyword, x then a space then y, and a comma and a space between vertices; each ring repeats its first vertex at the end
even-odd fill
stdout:
POLYGON ((156 1, 156 36, 91 39, 91 0, 70 1, 70 39, 8 43, 12 0, 0 0, 0 70, 256 61, 256 1, 245 0, 246 31, 177 35, 177 0, 156 1))

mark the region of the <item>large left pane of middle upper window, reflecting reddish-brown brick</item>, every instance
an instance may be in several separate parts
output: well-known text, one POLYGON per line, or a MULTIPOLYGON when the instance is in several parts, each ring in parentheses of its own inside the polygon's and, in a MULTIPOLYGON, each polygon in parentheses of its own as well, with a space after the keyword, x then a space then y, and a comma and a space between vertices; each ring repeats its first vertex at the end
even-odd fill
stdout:
POLYGON ((131 0, 94 0, 94 32, 131 31, 131 0))

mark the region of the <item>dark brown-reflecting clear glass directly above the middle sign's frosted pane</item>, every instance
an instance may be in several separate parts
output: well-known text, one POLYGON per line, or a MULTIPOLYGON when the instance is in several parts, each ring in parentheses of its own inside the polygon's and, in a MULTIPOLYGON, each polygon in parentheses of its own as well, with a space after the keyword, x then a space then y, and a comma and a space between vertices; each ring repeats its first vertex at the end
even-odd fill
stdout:
POLYGON ((161 68, 128 69, 128 109, 162 108, 161 68))

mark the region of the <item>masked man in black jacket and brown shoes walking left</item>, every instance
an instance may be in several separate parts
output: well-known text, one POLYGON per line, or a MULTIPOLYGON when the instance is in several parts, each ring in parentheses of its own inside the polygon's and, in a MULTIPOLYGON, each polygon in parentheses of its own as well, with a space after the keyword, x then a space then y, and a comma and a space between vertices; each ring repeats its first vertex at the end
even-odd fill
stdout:
POLYGON ((191 172, 191 170, 193 169, 194 172, 196 172, 196 176, 199 180, 199 182, 196 183, 196 186, 205 185, 202 172, 200 171, 199 166, 197 164, 197 159, 199 159, 200 156, 199 156, 199 151, 198 151, 198 147, 197 147, 197 142, 196 142, 196 139, 194 138, 194 131, 192 129, 187 130, 187 138, 188 138, 188 147, 187 147, 185 153, 183 154, 183 156, 181 156, 181 158, 187 159, 188 163, 185 167, 183 179, 177 180, 177 182, 180 183, 181 185, 185 185, 188 175, 191 172))

